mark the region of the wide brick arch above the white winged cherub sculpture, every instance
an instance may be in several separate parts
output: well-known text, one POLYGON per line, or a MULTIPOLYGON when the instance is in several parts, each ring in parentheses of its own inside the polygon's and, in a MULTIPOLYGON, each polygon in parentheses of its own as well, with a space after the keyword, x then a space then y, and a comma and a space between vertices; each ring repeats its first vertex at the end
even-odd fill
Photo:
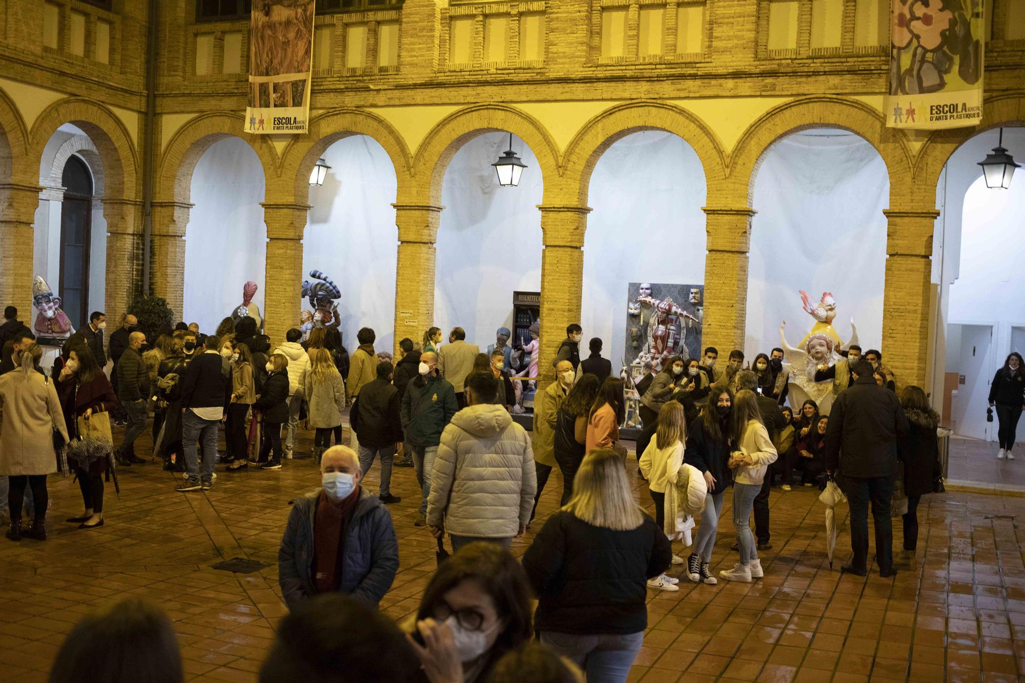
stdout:
POLYGON ((862 102, 816 95, 774 107, 747 127, 730 154, 728 182, 735 201, 750 206, 758 166, 773 143, 793 132, 823 127, 848 130, 875 148, 887 165, 891 197, 910 185, 911 153, 903 132, 887 128, 883 115, 862 102))

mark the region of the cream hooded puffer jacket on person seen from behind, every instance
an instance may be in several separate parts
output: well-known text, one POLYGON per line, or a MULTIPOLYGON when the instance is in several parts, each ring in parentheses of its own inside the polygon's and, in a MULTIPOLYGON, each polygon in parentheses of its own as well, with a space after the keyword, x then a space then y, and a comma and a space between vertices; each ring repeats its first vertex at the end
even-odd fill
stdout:
POLYGON ((527 432, 504 406, 471 405, 442 432, 427 524, 459 536, 509 538, 530 521, 536 490, 527 432))

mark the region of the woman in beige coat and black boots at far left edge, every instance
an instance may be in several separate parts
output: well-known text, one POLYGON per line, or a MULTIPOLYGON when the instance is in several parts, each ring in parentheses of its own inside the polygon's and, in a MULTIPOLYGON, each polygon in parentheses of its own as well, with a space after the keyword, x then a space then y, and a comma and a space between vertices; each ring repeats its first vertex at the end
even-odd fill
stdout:
POLYGON ((68 442, 68 429, 57 391, 49 377, 36 371, 43 357, 42 348, 34 343, 25 345, 14 361, 17 367, 0 375, 0 408, 3 409, 3 430, 0 431, 0 475, 8 482, 7 506, 10 509, 10 530, 7 537, 22 539, 22 506, 25 487, 32 487, 35 516, 26 535, 46 540, 46 475, 57 471, 53 452, 53 431, 68 442))

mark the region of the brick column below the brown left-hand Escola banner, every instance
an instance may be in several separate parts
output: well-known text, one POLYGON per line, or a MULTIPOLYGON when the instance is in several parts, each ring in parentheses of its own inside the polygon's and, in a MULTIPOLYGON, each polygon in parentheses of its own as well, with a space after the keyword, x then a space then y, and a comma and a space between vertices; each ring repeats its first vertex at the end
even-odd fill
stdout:
POLYGON ((263 281, 263 331, 277 347, 285 332, 299 325, 302 292, 302 233, 309 204, 260 202, 266 224, 266 272, 263 281))

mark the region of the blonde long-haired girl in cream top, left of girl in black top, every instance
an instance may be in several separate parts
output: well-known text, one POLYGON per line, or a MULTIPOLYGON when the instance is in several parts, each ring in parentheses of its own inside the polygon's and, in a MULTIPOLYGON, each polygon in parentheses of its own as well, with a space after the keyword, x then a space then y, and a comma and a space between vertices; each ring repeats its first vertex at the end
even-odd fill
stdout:
MULTIPOLYGON (((641 474, 648 480, 648 492, 655 503, 655 524, 662 529, 665 523, 665 488, 676 483, 676 473, 684 464, 684 444, 687 443, 687 419, 684 406, 669 401, 658 411, 658 430, 655 438, 648 442, 641 460, 641 474)), ((672 556, 672 564, 683 564, 684 558, 672 556)), ((648 581, 648 588, 659 591, 676 591, 679 578, 656 576, 648 581)))

